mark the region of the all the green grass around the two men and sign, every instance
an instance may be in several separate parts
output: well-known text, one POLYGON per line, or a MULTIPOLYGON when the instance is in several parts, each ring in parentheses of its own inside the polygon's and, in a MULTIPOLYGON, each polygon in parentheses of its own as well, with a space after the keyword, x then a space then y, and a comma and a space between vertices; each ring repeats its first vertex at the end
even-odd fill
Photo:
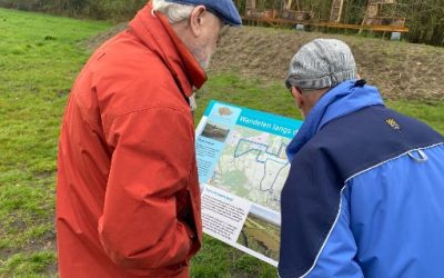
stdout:
MULTIPOLYGON (((109 27, 0 9, 0 277, 57 276, 59 127, 89 56, 82 42, 109 27)), ((281 80, 214 73, 199 92, 196 120, 210 99, 300 118, 281 80)), ((443 101, 387 103, 444 133, 443 101)), ((192 261, 192 277, 275 276, 273 267, 210 237, 192 261)))

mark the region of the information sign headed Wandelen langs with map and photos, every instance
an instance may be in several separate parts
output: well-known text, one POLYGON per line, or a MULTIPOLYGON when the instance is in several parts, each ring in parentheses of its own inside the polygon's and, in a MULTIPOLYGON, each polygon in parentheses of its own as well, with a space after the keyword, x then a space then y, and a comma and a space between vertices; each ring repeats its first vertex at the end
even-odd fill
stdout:
POLYGON ((210 102, 195 132, 205 234, 278 266, 285 149, 301 125, 210 102))

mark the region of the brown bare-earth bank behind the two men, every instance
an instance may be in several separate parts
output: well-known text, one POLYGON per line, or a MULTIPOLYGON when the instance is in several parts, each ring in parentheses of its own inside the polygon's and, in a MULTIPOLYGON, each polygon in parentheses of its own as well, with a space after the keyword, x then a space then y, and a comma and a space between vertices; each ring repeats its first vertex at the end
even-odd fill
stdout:
MULTIPOLYGON (((94 48, 123 30, 115 26, 88 42, 94 48)), ((301 32, 260 27, 230 28, 222 37, 210 73, 234 71, 242 76, 283 80, 293 54, 315 38, 345 41, 360 75, 387 99, 444 100, 444 48, 356 36, 301 32)))

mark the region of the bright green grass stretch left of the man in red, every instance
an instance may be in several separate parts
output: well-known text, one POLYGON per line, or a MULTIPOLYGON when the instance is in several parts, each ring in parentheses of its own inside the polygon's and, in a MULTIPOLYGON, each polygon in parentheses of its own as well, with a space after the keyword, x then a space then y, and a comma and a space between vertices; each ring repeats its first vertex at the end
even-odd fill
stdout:
POLYGON ((59 126, 79 43, 109 26, 0 9, 0 277, 54 272, 59 126))

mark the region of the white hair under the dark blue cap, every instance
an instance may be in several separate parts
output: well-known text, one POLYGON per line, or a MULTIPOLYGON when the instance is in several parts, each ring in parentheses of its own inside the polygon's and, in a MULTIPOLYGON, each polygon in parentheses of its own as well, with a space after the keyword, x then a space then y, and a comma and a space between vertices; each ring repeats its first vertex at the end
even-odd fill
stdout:
POLYGON ((171 24, 189 19, 194 6, 167 2, 165 0, 153 0, 153 12, 163 13, 171 24))

